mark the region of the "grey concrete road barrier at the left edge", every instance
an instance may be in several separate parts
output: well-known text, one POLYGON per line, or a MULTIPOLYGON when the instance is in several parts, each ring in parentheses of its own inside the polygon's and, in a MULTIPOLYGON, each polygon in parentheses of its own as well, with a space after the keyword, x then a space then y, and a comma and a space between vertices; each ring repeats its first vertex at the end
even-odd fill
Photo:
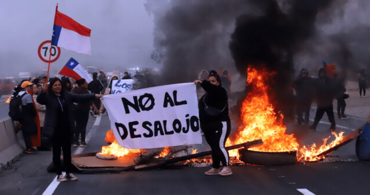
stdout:
POLYGON ((10 117, 0 120, 0 170, 13 164, 26 148, 21 131, 16 133, 10 117))

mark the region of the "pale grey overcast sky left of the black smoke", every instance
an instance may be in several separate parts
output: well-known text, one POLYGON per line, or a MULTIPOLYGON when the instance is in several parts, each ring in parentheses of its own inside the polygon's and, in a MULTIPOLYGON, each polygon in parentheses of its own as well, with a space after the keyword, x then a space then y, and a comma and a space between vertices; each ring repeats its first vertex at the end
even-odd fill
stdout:
POLYGON ((58 11, 91 29, 91 55, 61 48, 52 69, 58 71, 71 57, 106 71, 160 67, 150 59, 154 24, 145 0, 0 0, 1 77, 47 68, 37 49, 51 40, 57 3, 58 11))

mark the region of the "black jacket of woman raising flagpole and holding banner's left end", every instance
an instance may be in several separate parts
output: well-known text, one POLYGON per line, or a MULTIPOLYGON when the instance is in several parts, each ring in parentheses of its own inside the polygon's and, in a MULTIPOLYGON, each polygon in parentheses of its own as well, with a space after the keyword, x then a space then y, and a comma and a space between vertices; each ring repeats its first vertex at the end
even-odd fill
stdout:
POLYGON ((73 116, 73 102, 89 101, 94 98, 94 93, 62 93, 56 96, 41 91, 36 101, 41 105, 46 105, 43 135, 46 137, 70 136, 74 124, 73 117, 70 117, 73 116))

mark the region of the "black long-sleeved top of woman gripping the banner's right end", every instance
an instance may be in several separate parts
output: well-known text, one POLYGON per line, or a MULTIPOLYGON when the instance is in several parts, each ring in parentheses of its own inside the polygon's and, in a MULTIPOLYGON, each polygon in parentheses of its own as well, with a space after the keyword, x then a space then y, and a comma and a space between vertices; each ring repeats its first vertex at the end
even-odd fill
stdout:
POLYGON ((198 108, 199 108, 199 121, 201 123, 210 123, 216 121, 228 121, 229 118, 229 107, 228 107, 228 95, 226 90, 222 86, 216 86, 211 84, 209 81, 204 80, 201 83, 202 88, 206 93, 199 99, 198 108), (204 101, 203 101, 204 100, 204 101), (207 106, 215 107, 219 110, 223 110, 221 116, 214 117, 209 116, 205 110, 205 103, 207 106))

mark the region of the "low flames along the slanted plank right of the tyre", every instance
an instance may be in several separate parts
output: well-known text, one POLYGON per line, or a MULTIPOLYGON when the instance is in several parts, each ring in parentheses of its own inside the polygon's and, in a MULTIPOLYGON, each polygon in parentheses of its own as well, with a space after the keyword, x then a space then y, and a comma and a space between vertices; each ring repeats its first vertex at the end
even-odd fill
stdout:
POLYGON ((303 146, 299 149, 300 157, 299 161, 318 161, 321 158, 324 158, 322 156, 317 156, 324 151, 328 150, 329 148, 332 148, 333 146, 336 146, 337 144, 340 144, 343 141, 343 133, 340 132, 339 134, 336 134, 335 132, 332 132, 332 134, 336 137, 334 141, 332 141, 330 144, 326 145, 327 140, 330 138, 327 137, 323 139, 323 145, 319 148, 316 147, 316 144, 312 144, 310 147, 306 148, 306 146, 303 146))

